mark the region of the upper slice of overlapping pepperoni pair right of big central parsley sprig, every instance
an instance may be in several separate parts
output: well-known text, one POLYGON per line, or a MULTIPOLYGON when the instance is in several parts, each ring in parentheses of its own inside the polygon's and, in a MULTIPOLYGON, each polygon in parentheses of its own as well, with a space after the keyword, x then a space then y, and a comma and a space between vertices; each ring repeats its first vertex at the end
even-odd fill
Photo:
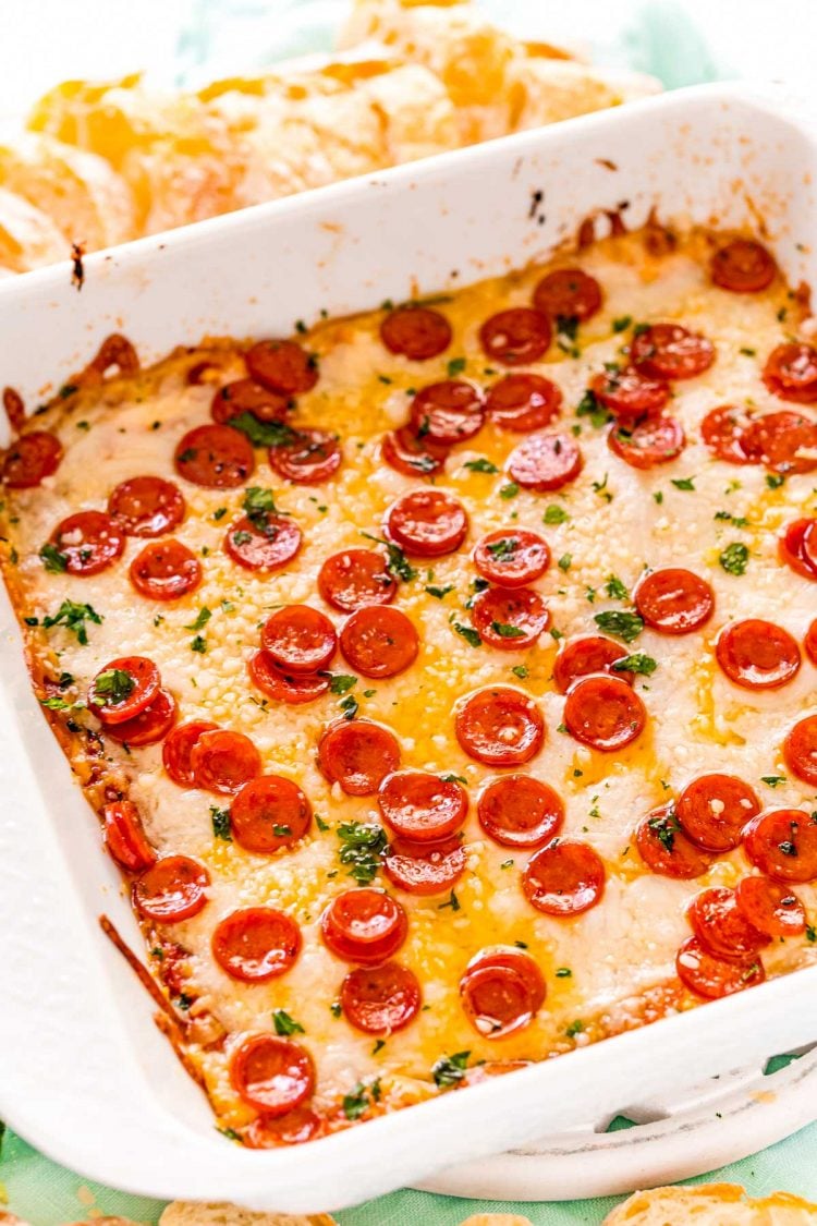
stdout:
POLYGON ((442 842, 457 834, 468 813, 468 793, 453 779, 419 770, 387 775, 377 804, 388 829, 412 842, 442 842))

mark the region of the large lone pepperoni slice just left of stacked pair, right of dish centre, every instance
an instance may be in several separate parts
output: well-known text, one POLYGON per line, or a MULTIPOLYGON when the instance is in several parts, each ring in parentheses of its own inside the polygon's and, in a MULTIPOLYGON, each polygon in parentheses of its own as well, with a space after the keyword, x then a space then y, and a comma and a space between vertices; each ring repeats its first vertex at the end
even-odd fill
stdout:
POLYGON ((527 694, 494 685, 461 699, 454 732, 469 758, 486 766, 521 766, 541 749, 545 721, 527 694))

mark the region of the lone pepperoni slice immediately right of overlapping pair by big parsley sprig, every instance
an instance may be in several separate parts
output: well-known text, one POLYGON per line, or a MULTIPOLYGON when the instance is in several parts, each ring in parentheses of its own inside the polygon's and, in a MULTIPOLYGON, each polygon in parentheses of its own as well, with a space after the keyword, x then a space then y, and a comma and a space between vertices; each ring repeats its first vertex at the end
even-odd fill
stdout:
POLYGON ((500 775, 480 792, 479 824, 502 847, 541 847, 562 828, 565 805, 530 775, 500 775))

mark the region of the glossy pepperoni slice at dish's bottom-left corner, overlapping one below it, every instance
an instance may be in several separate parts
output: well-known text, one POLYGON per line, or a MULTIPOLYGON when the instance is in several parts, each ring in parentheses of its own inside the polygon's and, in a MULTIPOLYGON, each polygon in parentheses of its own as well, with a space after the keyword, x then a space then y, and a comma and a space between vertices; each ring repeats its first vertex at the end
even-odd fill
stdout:
POLYGON ((292 1038, 254 1035, 233 1053, 230 1083, 250 1107, 285 1116, 311 1096, 315 1067, 309 1052, 292 1038))

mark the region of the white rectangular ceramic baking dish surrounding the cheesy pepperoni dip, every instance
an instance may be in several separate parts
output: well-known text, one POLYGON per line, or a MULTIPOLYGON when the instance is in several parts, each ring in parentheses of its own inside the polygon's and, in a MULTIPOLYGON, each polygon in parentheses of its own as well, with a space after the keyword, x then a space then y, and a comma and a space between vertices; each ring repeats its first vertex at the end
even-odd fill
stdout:
MULTIPOLYGON (((0 379, 29 407, 124 331, 145 360, 544 257, 590 212, 768 227, 813 282, 817 136, 775 91, 691 89, 149 238, 0 286, 0 379)), ((739 309, 739 308, 737 308, 739 309)), ((141 949, 97 823, 31 696, 0 601, 0 1116, 50 1156, 157 1197, 314 1211, 363 1200, 817 1037, 817 967, 339 1135, 251 1152, 213 1128, 97 927, 141 949)), ((817 1103, 815 1103, 817 1117, 817 1103)))

